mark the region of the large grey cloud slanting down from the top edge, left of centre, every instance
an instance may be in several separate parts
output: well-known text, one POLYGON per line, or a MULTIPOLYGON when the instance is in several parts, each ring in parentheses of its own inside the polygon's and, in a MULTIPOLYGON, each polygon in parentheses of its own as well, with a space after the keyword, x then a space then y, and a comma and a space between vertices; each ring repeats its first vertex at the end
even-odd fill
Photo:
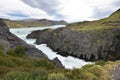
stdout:
POLYGON ((47 12, 48 15, 56 16, 58 18, 63 17, 58 13, 56 9, 59 3, 57 0, 22 0, 25 4, 34 8, 40 8, 47 12))

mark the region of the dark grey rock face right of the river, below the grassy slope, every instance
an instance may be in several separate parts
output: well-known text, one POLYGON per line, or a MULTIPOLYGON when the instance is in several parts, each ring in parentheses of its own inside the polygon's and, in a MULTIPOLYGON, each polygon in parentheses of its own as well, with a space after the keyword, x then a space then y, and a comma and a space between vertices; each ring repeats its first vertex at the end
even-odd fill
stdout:
POLYGON ((116 53, 120 48, 120 29, 111 29, 102 33, 76 32, 70 29, 44 30, 33 32, 29 38, 35 33, 39 35, 36 37, 37 44, 46 43, 63 56, 72 55, 85 60, 120 58, 116 53))

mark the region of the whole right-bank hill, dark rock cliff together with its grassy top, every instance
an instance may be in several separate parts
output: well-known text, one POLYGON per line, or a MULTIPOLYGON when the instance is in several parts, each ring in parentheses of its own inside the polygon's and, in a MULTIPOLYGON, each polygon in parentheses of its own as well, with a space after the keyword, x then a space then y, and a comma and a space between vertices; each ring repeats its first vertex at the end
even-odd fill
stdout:
POLYGON ((56 30, 34 31, 28 38, 47 43, 59 54, 93 61, 120 58, 120 10, 98 21, 85 21, 56 30), (117 17, 116 17, 117 16, 117 17))

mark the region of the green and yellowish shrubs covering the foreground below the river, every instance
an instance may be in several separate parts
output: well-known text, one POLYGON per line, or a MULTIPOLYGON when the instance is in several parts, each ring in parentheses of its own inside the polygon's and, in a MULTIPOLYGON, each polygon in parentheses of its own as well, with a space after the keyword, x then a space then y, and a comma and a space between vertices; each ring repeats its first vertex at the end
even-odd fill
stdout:
POLYGON ((0 54, 1 80, 112 80, 112 69, 120 65, 120 61, 100 60, 93 65, 68 70, 58 68, 55 62, 46 59, 31 59, 26 55, 16 56, 15 50, 18 48, 20 47, 8 50, 7 54, 4 51, 0 54))

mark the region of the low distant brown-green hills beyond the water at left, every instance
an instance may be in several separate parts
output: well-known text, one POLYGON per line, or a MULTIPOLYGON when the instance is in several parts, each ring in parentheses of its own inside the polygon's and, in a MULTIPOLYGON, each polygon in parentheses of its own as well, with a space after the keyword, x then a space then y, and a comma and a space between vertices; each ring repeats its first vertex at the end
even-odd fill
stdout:
POLYGON ((9 28, 21 28, 21 27, 45 27, 52 25, 66 25, 65 21, 53 21, 47 19, 25 19, 25 20, 9 20, 3 19, 9 28))

